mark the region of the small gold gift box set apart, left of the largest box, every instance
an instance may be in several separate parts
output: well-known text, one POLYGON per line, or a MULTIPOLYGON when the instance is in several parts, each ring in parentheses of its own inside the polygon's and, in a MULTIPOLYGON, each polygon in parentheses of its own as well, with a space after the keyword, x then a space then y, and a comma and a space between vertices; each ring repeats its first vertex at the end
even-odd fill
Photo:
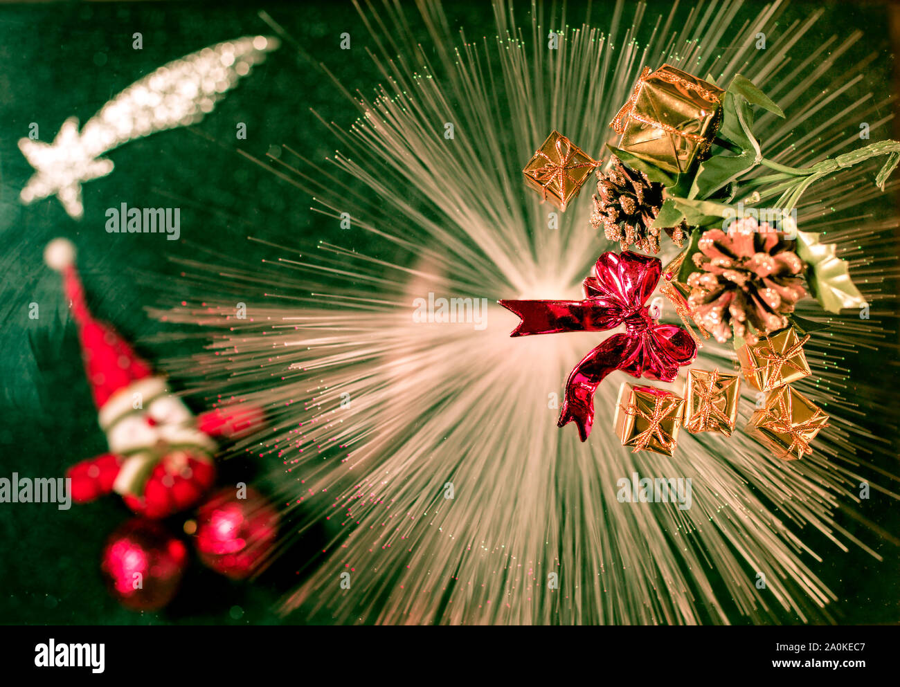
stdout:
POLYGON ((571 140, 559 131, 553 131, 525 165, 522 174, 525 174, 526 183, 541 193, 545 201, 565 210, 597 165, 571 140))

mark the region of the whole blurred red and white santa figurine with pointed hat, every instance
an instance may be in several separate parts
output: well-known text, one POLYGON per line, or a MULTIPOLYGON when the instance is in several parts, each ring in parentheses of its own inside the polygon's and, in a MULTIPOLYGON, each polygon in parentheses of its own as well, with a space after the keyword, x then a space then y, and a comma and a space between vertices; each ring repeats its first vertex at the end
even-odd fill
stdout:
POLYGON ((65 238, 44 251, 62 275, 78 328, 87 379, 109 453, 69 468, 76 503, 116 492, 132 511, 165 518, 196 504, 215 479, 216 438, 237 439, 263 423, 245 404, 193 415, 120 335, 94 319, 75 268, 75 246, 65 238))

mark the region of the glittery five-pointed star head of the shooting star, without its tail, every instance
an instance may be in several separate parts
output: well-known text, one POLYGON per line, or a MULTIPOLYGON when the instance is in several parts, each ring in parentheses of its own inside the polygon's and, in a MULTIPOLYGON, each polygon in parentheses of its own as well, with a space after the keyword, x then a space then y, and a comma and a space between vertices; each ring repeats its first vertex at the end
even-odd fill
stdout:
POLYGON ((112 160, 98 160, 78 134, 78 120, 69 117, 53 143, 20 138, 19 149, 36 170, 23 188, 23 202, 56 195, 70 217, 81 219, 81 184, 112 172, 112 160))

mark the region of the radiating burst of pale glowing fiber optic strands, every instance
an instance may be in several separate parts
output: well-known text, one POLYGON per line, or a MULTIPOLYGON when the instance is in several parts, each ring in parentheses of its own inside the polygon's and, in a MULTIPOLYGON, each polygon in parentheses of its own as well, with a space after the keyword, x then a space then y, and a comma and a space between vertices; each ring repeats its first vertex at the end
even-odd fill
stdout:
MULTIPOLYGON (((867 61, 833 68, 861 34, 788 59, 820 13, 777 26, 783 11, 773 3, 748 19, 740 3, 726 2, 656 16, 619 3, 572 28, 556 5, 545 13, 497 3, 496 38, 477 41, 451 36, 439 4, 421 6, 427 36, 413 36, 399 9, 364 12, 383 81, 374 98, 360 97, 353 126, 329 125, 342 151, 333 166, 320 169, 288 147, 293 156, 260 164, 310 192, 326 221, 348 212, 357 230, 398 257, 268 244, 280 257, 262 269, 221 256, 184 263, 189 276, 179 290, 197 302, 157 311, 170 322, 222 328, 207 352, 168 369, 194 391, 266 406, 274 429, 235 451, 272 461, 292 536, 327 523, 329 546, 299 564, 302 583, 284 611, 382 623, 832 617, 826 606, 838 596, 816 573, 824 555, 850 544, 878 558, 834 513, 858 501, 863 479, 897 498, 896 477, 880 467, 888 444, 854 423, 863 409, 877 412, 886 392, 848 385, 845 362, 895 338, 878 324, 886 315, 878 303, 889 297, 881 283, 896 278, 885 240, 896 223, 871 218, 878 191, 868 180, 823 182, 798 210, 800 228, 827 230, 851 259, 873 304, 872 319, 835 317, 807 345, 817 382, 797 388, 822 400, 833 421, 800 461, 772 457, 743 432, 685 435, 671 459, 633 454, 611 432, 621 379, 599 388, 597 431, 580 444, 557 430, 554 395, 598 336, 510 339, 516 317, 492 305, 576 298, 590 263, 615 249, 590 227, 583 197, 548 228, 553 209, 523 188, 520 169, 551 129, 599 155, 644 65, 668 62, 717 83, 740 70, 790 112, 797 130, 760 119, 764 147, 784 150, 775 157, 787 165, 854 147, 839 118, 873 130, 885 124, 885 101, 846 94, 867 61), (554 27, 565 27, 559 49, 547 49, 554 27), (770 37, 765 51, 734 38, 759 31, 770 37), (639 43, 644 33, 650 38, 639 43), (824 89, 833 118, 819 111, 824 89), (453 140, 443 137, 448 121, 453 140), (355 178, 367 192, 326 174, 355 178), (429 293, 487 299, 486 326, 414 321, 414 299, 429 293), (236 297, 247 301, 247 319, 234 317, 236 297), (619 503, 617 481, 635 473, 690 477, 691 507, 619 503), (805 543, 813 531, 833 541, 831 550, 805 543), (340 586, 344 572, 349 589, 340 586)), ((266 236, 256 240, 266 244, 266 236)), ((733 360, 730 349, 707 343, 696 366, 729 369, 733 360)), ((661 386, 680 385, 683 375, 661 386)), ((754 402, 743 398, 739 427, 754 402)), ((890 418, 884 424, 886 436, 895 432, 890 418)))

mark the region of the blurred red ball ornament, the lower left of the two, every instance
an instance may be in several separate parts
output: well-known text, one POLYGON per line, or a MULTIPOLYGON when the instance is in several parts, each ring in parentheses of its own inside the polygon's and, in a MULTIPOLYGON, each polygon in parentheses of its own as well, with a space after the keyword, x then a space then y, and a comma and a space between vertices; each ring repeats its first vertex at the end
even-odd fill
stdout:
POLYGON ((133 611, 157 611, 172 600, 187 566, 184 541, 159 522, 134 518, 112 533, 101 570, 110 593, 133 611))

